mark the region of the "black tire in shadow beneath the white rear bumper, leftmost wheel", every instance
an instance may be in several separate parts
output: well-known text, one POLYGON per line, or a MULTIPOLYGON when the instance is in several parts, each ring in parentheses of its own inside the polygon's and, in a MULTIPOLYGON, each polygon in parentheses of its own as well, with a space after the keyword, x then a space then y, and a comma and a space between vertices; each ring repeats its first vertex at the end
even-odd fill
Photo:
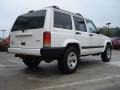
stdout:
POLYGON ((37 67, 40 64, 41 60, 34 60, 29 58, 23 58, 23 62, 28 67, 37 67))

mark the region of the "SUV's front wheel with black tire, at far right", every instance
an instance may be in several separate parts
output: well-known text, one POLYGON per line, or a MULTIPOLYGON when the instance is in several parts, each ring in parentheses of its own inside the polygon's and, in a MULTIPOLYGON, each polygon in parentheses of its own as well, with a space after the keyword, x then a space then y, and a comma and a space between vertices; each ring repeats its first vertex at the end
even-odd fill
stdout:
POLYGON ((111 55, 112 55, 112 47, 111 47, 111 45, 107 45, 105 51, 101 54, 102 61, 110 62, 111 55), (108 53, 109 53, 109 56, 108 56, 108 53))

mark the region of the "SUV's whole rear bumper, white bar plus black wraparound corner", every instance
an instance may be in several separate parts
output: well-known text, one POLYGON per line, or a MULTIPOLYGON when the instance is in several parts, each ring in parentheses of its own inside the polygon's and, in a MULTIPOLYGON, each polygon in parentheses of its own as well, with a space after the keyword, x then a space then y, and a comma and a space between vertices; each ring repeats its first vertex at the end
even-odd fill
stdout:
POLYGON ((59 58, 63 55, 65 47, 41 48, 41 49, 24 49, 24 48, 8 48, 8 52, 16 55, 40 56, 43 58, 59 58))

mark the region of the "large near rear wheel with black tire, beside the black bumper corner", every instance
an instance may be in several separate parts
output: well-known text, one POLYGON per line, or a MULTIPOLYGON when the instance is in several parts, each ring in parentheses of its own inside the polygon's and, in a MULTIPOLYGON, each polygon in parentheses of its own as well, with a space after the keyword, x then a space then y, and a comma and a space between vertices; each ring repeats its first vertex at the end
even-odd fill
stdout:
MULTIPOLYGON (((72 55, 72 57, 73 57, 73 55, 72 55)), ((59 69, 61 70, 61 72, 63 74, 71 74, 76 71, 77 66, 78 66, 78 60, 79 60, 78 50, 74 47, 69 47, 65 51, 63 57, 58 60, 59 69), (68 59, 68 57, 70 57, 70 55, 72 55, 72 54, 74 55, 74 58, 68 59), (70 63, 74 63, 73 66, 72 66, 72 64, 70 65, 70 63)))

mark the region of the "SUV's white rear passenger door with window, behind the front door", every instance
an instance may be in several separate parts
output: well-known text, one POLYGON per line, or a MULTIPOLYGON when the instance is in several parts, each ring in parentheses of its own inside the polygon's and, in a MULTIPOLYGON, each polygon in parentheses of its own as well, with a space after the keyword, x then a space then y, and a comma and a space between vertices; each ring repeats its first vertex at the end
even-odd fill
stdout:
POLYGON ((76 39, 79 40, 82 54, 89 54, 90 36, 87 32, 85 21, 82 18, 73 17, 75 23, 76 39))

